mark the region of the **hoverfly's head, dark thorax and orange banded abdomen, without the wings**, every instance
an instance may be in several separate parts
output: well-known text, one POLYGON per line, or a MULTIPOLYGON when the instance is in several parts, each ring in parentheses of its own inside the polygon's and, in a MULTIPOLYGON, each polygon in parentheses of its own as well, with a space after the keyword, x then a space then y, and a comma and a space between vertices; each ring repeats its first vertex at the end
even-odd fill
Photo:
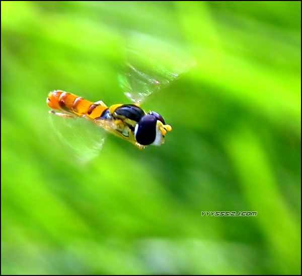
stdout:
POLYGON ((146 113, 135 104, 115 104, 108 108, 102 101, 92 103, 64 91, 50 92, 47 104, 55 115, 84 117, 140 150, 147 145, 161 146, 165 134, 172 129, 160 114, 154 111, 146 113))

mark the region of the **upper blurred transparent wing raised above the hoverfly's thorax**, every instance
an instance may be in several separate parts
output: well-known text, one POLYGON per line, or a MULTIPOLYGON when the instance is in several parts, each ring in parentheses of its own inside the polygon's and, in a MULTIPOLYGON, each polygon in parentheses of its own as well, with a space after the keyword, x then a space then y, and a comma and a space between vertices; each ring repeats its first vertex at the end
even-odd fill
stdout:
POLYGON ((195 64, 183 47, 146 35, 132 35, 128 44, 131 46, 126 49, 126 64, 119 81, 124 94, 136 104, 180 78, 195 64))

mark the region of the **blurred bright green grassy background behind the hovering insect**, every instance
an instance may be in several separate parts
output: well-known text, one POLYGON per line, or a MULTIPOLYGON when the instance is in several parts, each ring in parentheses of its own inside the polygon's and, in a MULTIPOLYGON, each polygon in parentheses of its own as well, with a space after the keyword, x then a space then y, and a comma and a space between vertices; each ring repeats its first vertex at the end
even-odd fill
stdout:
POLYGON ((301 273, 300 2, 2 1, 1 38, 2 274, 301 273), (81 164, 47 94, 129 102, 133 32, 196 61, 143 105, 173 130, 81 164))

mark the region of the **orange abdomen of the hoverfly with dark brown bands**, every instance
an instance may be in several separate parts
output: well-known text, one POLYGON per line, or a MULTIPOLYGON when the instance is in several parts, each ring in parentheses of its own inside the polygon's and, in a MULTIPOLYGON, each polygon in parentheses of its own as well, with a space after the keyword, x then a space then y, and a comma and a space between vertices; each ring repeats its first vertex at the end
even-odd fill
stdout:
POLYGON ((73 113, 78 116, 86 115, 93 119, 100 117, 107 109, 106 106, 94 104, 81 97, 59 90, 49 93, 47 104, 55 110, 73 113))

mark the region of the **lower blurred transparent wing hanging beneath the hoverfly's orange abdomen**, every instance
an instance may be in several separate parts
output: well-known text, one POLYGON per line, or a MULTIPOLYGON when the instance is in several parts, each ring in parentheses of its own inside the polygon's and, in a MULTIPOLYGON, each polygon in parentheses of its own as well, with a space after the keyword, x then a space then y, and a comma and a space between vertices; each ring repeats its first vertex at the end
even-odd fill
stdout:
POLYGON ((58 143, 80 163, 96 158, 102 150, 107 131, 85 118, 65 118, 49 114, 49 122, 58 143))

